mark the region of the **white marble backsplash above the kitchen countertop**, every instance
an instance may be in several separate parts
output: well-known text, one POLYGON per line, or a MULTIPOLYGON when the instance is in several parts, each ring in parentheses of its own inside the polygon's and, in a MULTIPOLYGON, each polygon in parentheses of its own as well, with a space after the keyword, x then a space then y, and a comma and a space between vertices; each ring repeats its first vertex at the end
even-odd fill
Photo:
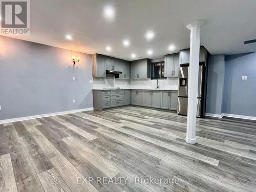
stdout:
MULTIPOLYGON (((155 89, 156 79, 118 79, 114 77, 93 77, 93 89, 103 88, 155 89)), ((159 89, 177 90, 178 78, 159 79, 159 89)))

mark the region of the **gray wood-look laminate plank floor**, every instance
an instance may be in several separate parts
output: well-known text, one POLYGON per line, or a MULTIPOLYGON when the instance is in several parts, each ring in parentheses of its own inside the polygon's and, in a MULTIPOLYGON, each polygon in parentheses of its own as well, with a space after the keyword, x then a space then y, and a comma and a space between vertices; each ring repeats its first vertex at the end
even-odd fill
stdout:
POLYGON ((256 191, 255 122, 185 127, 133 106, 0 124, 0 191, 256 191))

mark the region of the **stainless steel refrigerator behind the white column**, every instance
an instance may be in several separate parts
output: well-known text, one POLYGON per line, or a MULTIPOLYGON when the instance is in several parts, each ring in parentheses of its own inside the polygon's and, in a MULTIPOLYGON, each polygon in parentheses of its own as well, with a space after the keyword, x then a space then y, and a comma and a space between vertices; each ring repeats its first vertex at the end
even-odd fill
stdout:
MULTIPOLYGON (((203 70, 204 66, 199 66, 198 75, 198 94, 197 94, 197 117, 202 116, 202 91, 203 91, 203 70)), ((180 67, 179 69, 179 84, 178 84, 178 109, 179 115, 187 115, 188 101, 188 74, 189 67, 180 67)))

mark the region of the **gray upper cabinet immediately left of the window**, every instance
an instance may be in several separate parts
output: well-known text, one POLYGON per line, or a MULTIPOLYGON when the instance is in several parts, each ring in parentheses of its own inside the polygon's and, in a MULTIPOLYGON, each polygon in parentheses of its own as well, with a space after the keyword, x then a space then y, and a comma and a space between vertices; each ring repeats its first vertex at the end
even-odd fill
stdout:
POLYGON ((151 74, 151 61, 150 59, 140 59, 131 61, 131 78, 144 79, 150 78, 151 74))

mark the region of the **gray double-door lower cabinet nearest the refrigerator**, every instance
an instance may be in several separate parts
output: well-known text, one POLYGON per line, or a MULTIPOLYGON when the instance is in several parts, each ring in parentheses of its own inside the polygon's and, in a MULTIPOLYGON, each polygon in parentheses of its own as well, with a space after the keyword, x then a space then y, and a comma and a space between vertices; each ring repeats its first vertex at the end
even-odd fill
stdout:
POLYGON ((177 110, 178 92, 162 91, 161 93, 161 109, 177 110))

